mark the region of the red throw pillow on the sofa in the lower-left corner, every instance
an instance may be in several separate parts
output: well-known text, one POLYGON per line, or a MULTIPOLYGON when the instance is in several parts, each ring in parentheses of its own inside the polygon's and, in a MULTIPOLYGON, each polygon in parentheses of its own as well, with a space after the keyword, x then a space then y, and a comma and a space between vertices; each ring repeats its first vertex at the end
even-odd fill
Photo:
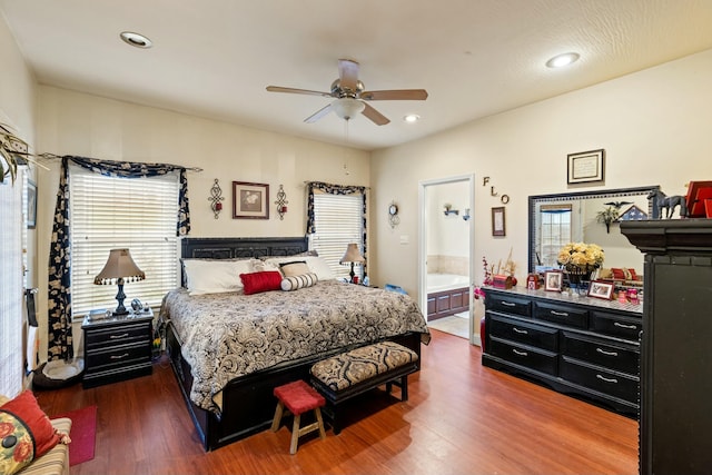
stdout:
POLYGON ((47 414, 40 409, 34 395, 30 390, 22 392, 14 399, 0 406, 0 413, 10 414, 22 422, 34 439, 34 455, 38 458, 59 443, 59 434, 52 427, 47 414))

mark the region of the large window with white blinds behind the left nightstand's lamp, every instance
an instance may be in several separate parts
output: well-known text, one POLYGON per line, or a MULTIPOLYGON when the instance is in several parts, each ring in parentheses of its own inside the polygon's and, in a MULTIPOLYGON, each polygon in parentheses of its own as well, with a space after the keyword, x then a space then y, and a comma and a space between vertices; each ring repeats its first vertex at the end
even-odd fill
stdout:
POLYGON ((115 309, 116 285, 93 278, 115 248, 127 247, 146 280, 127 281, 134 298, 159 306, 178 285, 178 172, 151 178, 116 178, 69 167, 72 317, 92 308, 115 309))

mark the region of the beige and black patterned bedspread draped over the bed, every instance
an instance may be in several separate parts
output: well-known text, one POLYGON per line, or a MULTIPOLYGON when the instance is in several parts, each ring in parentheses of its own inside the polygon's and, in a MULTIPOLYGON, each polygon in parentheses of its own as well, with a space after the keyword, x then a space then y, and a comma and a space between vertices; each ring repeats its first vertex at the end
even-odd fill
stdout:
POLYGON ((429 343, 412 297, 337 280, 254 295, 175 289, 164 297, 161 316, 190 364, 190 399, 208 410, 218 410, 215 398, 231 379, 283 362, 408 331, 429 343))

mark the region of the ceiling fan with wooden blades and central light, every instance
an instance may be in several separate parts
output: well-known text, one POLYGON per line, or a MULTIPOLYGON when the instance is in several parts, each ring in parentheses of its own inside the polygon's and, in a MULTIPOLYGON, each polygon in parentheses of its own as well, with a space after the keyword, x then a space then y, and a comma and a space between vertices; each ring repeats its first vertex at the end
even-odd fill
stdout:
POLYGON ((322 117, 334 111, 344 120, 350 120, 354 116, 360 112, 374 123, 385 126, 390 122, 390 120, 368 105, 367 101, 427 99, 427 91, 425 89, 393 89, 382 91, 364 90, 364 83, 358 79, 358 62, 350 59, 338 60, 338 79, 335 79, 334 82, 332 82, 330 92, 283 88, 279 86, 267 86, 267 90, 270 92, 291 92, 336 98, 334 102, 304 119, 307 123, 316 122, 322 117))

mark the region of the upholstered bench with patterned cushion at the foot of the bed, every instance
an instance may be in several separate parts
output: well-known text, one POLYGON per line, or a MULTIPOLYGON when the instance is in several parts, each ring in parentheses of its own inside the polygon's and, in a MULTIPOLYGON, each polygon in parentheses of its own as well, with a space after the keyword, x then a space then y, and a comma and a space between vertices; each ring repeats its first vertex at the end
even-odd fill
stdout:
POLYGON ((393 342, 382 342, 323 359, 312 366, 312 385, 324 395, 334 434, 339 425, 340 403, 383 384, 389 394, 400 387, 400 400, 408 400, 408 375, 418 370, 418 355, 393 342))

